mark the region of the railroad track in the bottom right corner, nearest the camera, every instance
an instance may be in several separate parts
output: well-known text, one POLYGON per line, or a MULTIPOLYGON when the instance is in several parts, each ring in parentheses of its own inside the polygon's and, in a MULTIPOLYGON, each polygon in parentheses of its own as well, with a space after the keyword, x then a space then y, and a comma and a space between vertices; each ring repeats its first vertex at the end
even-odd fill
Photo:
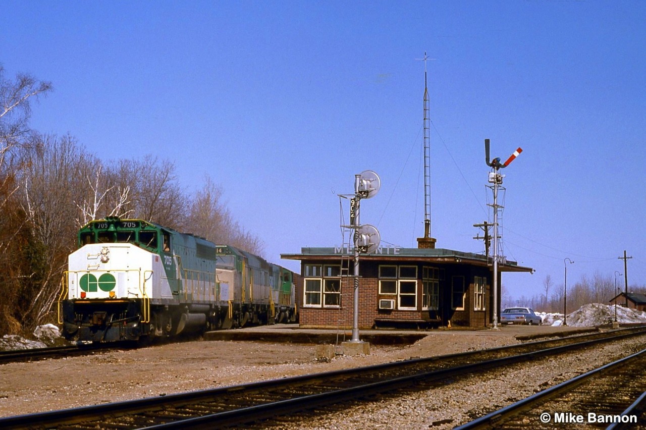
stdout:
POLYGON ((646 426, 646 349, 457 427, 552 429, 646 426), (637 399, 637 400, 635 400, 637 399))

